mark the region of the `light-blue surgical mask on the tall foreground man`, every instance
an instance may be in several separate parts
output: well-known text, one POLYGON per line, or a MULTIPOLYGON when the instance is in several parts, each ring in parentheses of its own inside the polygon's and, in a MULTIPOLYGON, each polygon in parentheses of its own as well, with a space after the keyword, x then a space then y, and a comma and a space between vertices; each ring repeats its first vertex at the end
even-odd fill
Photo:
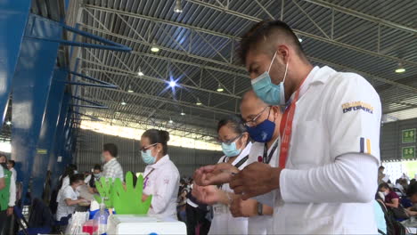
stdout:
POLYGON ((284 93, 284 81, 287 77, 288 62, 285 66, 285 73, 282 79, 282 82, 278 85, 272 83, 271 77, 269 76, 269 71, 275 60, 276 52, 274 53, 274 58, 269 65, 269 69, 261 74, 259 77, 252 80, 252 88, 257 93, 257 96, 264 102, 269 105, 284 105, 285 104, 285 93, 284 93))

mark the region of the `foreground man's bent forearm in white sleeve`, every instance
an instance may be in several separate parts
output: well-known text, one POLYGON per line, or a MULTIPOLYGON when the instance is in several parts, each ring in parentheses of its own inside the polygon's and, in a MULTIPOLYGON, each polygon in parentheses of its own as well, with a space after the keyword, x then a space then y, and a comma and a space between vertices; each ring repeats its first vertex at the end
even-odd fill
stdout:
POLYGON ((282 199, 291 203, 369 202, 377 188, 377 168, 372 156, 344 154, 325 166, 284 169, 279 181, 282 199))

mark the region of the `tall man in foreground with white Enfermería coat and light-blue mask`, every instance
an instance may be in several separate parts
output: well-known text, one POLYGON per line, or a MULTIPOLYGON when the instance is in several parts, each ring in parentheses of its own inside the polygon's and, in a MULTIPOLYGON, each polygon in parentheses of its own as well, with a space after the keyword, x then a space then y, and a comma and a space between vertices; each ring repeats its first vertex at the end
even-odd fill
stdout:
POLYGON ((258 97, 286 109, 278 167, 246 166, 231 181, 234 192, 249 199, 275 191, 276 234, 377 233, 378 93, 357 74, 313 67, 279 20, 251 28, 241 50, 258 97))

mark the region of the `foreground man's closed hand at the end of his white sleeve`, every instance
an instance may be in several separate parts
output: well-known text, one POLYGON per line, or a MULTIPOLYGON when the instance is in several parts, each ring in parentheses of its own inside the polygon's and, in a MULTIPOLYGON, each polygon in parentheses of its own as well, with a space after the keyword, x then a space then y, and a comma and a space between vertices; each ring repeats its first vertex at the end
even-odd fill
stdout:
POLYGON ((233 176, 230 181, 230 188, 234 190, 235 194, 241 194, 241 199, 250 199, 278 189, 280 174, 280 168, 273 168, 265 163, 255 162, 233 176))

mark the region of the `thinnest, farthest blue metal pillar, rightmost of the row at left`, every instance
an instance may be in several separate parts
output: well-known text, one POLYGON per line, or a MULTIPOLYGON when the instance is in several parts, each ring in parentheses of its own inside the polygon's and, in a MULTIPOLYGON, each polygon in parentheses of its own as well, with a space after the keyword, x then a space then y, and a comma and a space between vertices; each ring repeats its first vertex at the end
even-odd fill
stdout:
POLYGON ((64 93, 62 99, 62 105, 60 110, 60 117, 58 118, 58 126, 56 127, 56 133, 54 135, 53 150, 49 158, 49 170, 52 171, 52 188, 54 189, 57 179, 62 174, 65 163, 63 162, 62 150, 65 144, 65 124, 69 116, 71 94, 64 93))

